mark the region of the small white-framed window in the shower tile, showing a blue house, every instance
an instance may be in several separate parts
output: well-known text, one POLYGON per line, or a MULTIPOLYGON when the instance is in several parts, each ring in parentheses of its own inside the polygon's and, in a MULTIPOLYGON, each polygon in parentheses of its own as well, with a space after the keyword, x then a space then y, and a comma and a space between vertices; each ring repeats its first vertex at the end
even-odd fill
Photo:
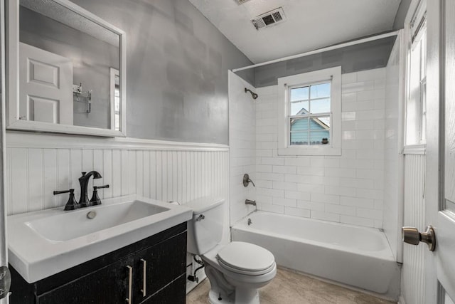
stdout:
POLYGON ((341 67, 278 80, 282 155, 341 154, 341 67))

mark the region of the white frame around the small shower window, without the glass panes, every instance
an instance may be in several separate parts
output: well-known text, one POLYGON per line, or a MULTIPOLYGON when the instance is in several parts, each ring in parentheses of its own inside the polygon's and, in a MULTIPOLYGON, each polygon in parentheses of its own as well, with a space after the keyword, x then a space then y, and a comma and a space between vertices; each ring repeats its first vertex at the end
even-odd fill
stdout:
POLYGON ((278 154, 341 155, 341 66, 278 78, 278 154), (289 145, 289 90, 331 80, 331 138, 327 145, 289 145))

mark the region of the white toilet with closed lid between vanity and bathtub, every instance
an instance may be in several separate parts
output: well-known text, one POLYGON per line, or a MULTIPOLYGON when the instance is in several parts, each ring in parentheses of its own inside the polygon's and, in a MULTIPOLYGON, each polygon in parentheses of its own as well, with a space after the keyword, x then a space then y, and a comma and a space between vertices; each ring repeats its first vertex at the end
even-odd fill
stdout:
POLYGON ((259 304, 258 288, 277 274, 273 254, 252 243, 221 245, 225 199, 203 197, 189 201, 188 252, 202 258, 210 281, 210 303, 259 304))

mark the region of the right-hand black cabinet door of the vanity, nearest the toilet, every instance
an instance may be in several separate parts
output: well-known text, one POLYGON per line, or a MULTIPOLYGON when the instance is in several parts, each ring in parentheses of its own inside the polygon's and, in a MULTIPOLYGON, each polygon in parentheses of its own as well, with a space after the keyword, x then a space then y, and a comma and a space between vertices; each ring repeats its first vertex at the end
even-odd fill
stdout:
POLYGON ((140 303, 186 273, 186 232, 139 251, 135 258, 134 302, 140 303))

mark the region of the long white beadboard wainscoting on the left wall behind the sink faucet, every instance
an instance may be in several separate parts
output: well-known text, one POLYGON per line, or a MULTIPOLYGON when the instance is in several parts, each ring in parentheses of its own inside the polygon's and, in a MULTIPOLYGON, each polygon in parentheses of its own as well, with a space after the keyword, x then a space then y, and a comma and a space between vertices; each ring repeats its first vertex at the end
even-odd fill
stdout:
MULTIPOLYGON (((60 137, 58 147, 45 146, 49 136, 33 135, 27 144, 14 135, 6 150, 6 206, 8 214, 64 206, 67 194, 53 196, 53 190, 74 188, 80 196, 78 178, 81 172, 97 170, 102 179, 95 185, 109 184, 100 189, 100 197, 138 194, 162 201, 185 203, 200 196, 215 195, 228 199, 228 147, 208 145, 144 145, 127 149, 109 143, 91 145, 92 139, 60 137), (66 141, 66 142, 65 142, 66 141), (76 148, 75 142, 80 147, 76 148), (65 144, 68 147, 65 147, 65 144), (174 149, 172 149, 174 147, 174 149)), ((30 135, 25 135, 26 137, 30 135)), ((10 136, 11 138, 11 136, 10 136)), ((55 144, 55 143, 54 143, 55 144)), ((91 195, 91 192, 89 193, 91 195)))

